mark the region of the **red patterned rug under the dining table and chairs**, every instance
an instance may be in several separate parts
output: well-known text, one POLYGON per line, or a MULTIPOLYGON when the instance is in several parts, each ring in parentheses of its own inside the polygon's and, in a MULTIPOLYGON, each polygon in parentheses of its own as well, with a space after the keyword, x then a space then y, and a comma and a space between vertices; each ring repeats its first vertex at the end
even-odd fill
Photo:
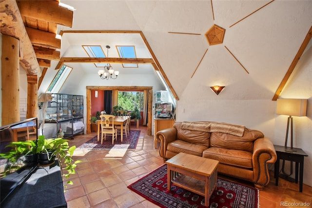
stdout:
MULTIPOLYGON (((130 130, 130 135, 126 138, 123 135, 122 143, 120 139, 120 135, 117 135, 117 141, 114 141, 114 145, 112 145, 112 136, 106 135, 106 141, 103 139, 103 144, 101 145, 101 138, 95 136, 88 142, 82 144, 78 148, 80 149, 135 149, 137 147, 137 141, 140 136, 140 130, 130 130)), ((99 135, 101 137, 101 134, 99 135)))

